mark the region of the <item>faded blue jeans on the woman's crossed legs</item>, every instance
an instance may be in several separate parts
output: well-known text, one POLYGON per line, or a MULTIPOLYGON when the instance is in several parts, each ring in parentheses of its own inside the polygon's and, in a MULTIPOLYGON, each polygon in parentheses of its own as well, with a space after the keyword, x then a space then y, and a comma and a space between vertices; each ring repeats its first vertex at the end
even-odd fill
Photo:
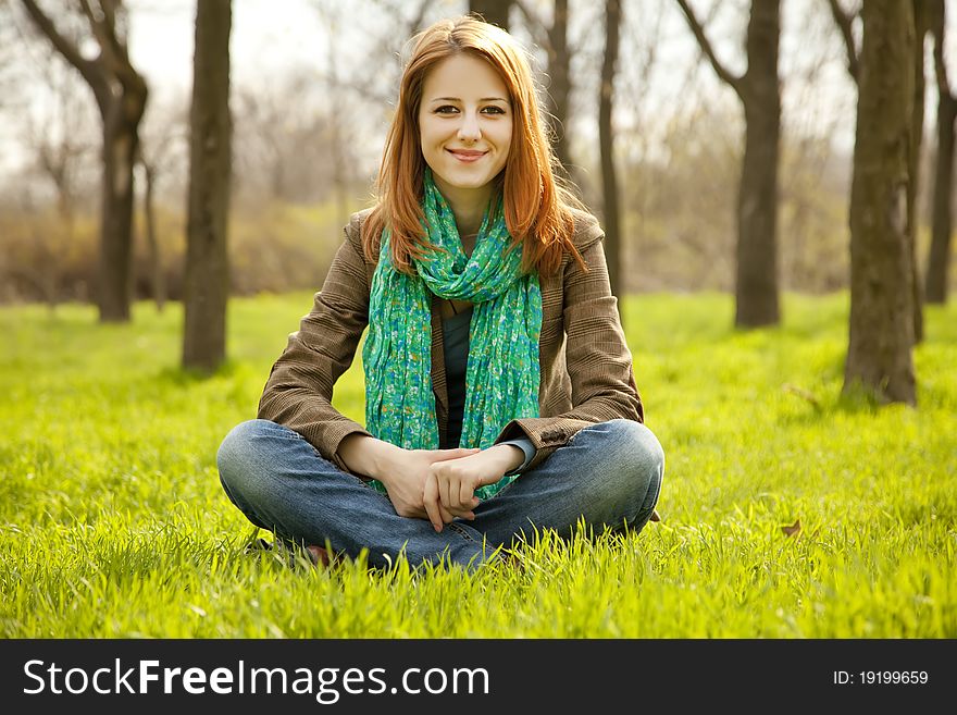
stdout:
POLYGON ((400 517, 384 494, 320 456, 297 432, 269 420, 235 427, 216 455, 229 500, 256 526, 284 541, 325 545, 388 566, 405 553, 474 569, 521 534, 554 529, 568 539, 580 519, 639 531, 658 502, 664 453, 648 428, 616 419, 589 426, 534 469, 437 533, 425 519, 400 517))

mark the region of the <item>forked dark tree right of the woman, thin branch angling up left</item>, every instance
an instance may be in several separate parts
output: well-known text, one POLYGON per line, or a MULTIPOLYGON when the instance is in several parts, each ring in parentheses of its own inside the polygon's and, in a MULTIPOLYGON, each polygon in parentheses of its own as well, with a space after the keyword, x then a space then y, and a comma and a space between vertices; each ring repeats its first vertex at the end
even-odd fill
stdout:
POLYGON ((716 74, 744 106, 745 150, 737 200, 734 324, 757 328, 780 322, 778 280, 778 156, 781 90, 778 79, 780 0, 753 0, 747 28, 748 66, 731 73, 714 54, 687 0, 678 0, 716 74))

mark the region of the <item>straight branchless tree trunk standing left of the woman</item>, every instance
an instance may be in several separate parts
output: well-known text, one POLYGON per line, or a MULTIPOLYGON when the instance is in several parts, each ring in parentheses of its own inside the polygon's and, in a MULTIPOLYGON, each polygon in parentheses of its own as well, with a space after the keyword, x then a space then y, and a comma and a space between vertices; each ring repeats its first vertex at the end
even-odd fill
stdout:
POLYGON ((189 116, 183 367, 203 372, 215 370, 226 355, 231 26, 229 0, 198 1, 189 116))

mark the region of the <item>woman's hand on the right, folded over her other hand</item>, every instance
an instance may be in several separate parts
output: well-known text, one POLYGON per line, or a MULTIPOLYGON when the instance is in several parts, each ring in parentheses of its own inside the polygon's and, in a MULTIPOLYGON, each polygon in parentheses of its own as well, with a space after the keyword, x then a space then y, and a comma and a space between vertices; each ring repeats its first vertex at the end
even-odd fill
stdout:
POLYGON ((449 515, 474 519, 472 509, 480 503, 475 490, 494 484, 525 458, 520 447, 508 444, 471 452, 468 456, 434 461, 428 469, 423 502, 436 531, 442 531, 443 525, 451 521, 447 518, 449 515))

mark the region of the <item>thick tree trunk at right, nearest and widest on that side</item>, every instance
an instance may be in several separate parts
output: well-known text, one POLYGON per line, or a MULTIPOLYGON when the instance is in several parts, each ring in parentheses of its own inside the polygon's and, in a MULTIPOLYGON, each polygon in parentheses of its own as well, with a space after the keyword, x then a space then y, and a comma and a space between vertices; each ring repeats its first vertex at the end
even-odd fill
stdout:
POLYGON ((850 190, 850 320, 844 391, 916 404, 907 192, 913 120, 913 9, 863 4, 850 190))

